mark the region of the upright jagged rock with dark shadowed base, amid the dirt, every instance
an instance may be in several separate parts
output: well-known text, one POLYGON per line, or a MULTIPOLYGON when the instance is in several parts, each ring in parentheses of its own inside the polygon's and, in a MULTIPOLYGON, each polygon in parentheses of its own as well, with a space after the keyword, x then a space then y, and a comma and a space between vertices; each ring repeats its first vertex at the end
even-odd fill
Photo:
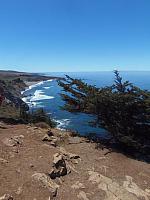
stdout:
POLYGON ((56 177, 65 176, 69 173, 69 169, 66 166, 66 162, 62 154, 54 154, 53 169, 50 172, 50 177, 55 179, 56 177))

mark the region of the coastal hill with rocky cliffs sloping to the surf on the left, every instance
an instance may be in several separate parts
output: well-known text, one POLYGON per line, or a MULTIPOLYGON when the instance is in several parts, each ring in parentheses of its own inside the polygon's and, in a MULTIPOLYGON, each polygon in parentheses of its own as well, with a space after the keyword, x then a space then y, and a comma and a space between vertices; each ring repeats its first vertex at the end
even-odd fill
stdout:
POLYGON ((29 85, 49 79, 61 78, 37 73, 0 70, 0 96, 5 97, 5 103, 0 109, 0 118, 18 116, 19 107, 28 110, 28 105, 22 101, 21 91, 29 85))

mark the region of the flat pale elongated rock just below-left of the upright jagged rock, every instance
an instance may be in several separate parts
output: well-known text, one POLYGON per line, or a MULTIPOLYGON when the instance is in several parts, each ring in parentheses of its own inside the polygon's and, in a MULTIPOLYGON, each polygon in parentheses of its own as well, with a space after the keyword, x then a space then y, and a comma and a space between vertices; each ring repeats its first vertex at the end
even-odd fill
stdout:
POLYGON ((50 177, 48 177, 44 173, 35 173, 32 175, 32 178, 34 181, 39 182, 42 186, 46 187, 53 197, 57 195, 57 190, 59 188, 59 185, 54 183, 50 177))

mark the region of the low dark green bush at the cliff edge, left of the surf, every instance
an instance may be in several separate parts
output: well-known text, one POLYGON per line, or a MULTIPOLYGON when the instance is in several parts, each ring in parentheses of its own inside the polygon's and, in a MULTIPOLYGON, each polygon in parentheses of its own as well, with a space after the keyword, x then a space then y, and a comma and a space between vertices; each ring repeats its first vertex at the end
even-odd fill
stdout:
POLYGON ((43 109, 38 109, 32 112, 25 112, 24 110, 20 110, 20 116, 23 120, 28 123, 40 123, 44 122, 48 124, 50 127, 54 128, 56 123, 50 119, 50 117, 46 114, 43 109))

